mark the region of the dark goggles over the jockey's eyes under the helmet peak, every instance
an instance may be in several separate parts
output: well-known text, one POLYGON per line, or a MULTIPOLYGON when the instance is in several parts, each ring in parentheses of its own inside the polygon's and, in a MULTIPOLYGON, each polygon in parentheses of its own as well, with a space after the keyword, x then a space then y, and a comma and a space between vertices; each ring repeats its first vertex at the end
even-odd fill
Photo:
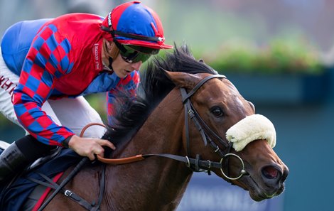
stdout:
POLYGON ((122 58, 126 63, 142 63, 146 62, 151 55, 156 55, 159 53, 159 49, 145 48, 136 45, 122 45, 124 49, 119 50, 122 58))

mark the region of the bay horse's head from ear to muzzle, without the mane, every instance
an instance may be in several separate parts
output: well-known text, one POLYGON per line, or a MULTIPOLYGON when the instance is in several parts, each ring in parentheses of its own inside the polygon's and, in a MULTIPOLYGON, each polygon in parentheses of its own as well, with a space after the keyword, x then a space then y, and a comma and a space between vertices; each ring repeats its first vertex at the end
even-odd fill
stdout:
POLYGON ((249 190, 253 200, 282 193, 289 170, 272 149, 276 132, 271 121, 255 114, 254 104, 222 75, 166 75, 181 91, 185 89, 185 112, 194 120, 185 121, 185 131, 189 130, 189 137, 185 135, 184 139, 188 156, 200 155, 200 161, 209 161, 202 168, 209 167, 221 178, 249 190), (212 168, 214 165, 219 168, 212 168))

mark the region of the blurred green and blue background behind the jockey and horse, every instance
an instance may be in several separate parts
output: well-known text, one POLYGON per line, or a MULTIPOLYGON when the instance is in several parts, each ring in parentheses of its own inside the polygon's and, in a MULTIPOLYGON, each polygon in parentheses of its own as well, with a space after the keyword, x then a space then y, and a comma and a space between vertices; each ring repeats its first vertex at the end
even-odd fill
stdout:
MULTIPOLYGON (((17 21, 77 11, 106 16, 109 9, 123 2, 0 0, 0 36, 17 21)), ((190 45, 195 58, 203 58, 227 75, 239 92, 254 102, 257 113, 264 114, 276 126, 275 151, 291 171, 286 191, 279 198, 268 200, 272 202, 268 205, 262 202, 257 207, 256 202, 250 202, 246 208, 235 205, 223 207, 224 210, 333 210, 334 185, 330 178, 334 173, 334 140, 330 134, 334 125, 334 1, 142 2, 161 17, 167 43, 190 45)), ((105 120, 104 94, 87 99, 105 120)), ((0 115, 0 139, 12 142, 21 136, 23 130, 0 115)), ((194 180, 180 211, 197 205, 198 201, 190 200, 200 200, 191 195, 194 187, 213 179, 195 175, 194 180)), ((221 204, 231 203, 233 197, 226 194, 218 198, 221 204)))

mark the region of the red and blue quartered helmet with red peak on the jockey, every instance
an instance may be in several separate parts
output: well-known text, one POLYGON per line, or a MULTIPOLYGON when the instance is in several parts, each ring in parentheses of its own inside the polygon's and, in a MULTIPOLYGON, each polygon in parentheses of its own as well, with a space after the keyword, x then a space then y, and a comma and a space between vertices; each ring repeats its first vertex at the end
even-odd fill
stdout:
POLYGON ((155 49, 173 48, 172 45, 164 43, 163 26, 156 12, 140 1, 131 1, 115 7, 102 22, 102 30, 109 32, 111 39, 122 45, 155 49))

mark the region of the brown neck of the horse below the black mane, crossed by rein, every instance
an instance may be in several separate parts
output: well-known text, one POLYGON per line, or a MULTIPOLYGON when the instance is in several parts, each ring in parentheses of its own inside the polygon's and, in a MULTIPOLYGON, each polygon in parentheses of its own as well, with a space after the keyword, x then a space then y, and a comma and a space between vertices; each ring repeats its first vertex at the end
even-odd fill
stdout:
MULTIPOLYGON (((184 155, 182 111, 181 99, 164 99, 120 157, 147 153, 184 155)), ((114 180, 115 174, 120 179, 107 190, 123 192, 117 207, 122 206, 124 210, 129 210, 131 206, 136 206, 132 207, 133 210, 173 210, 180 202, 192 175, 184 163, 160 157, 110 167, 110 171, 110 180, 114 180)))

